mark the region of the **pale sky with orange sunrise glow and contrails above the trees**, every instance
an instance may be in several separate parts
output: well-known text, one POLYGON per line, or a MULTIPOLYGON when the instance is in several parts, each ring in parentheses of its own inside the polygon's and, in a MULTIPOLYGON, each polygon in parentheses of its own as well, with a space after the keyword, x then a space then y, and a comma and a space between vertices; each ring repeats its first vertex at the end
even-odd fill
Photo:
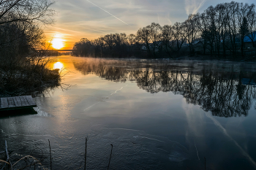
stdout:
MULTIPOLYGON (((81 38, 97 39, 105 34, 136 34, 151 23, 161 26, 183 22, 191 13, 231 0, 56 0, 52 26, 43 27, 46 41, 61 42, 72 49, 81 38), (54 40, 55 39, 55 40, 54 40)), ((248 4, 255 0, 240 0, 248 4)))

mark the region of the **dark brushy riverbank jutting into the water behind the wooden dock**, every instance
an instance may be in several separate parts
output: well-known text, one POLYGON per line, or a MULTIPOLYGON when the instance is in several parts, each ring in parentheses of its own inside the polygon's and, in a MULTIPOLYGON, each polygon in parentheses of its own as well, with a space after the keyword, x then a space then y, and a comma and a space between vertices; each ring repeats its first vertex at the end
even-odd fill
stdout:
POLYGON ((0 64, 0 96, 20 96, 59 85, 59 69, 50 70, 46 58, 23 58, 0 64))

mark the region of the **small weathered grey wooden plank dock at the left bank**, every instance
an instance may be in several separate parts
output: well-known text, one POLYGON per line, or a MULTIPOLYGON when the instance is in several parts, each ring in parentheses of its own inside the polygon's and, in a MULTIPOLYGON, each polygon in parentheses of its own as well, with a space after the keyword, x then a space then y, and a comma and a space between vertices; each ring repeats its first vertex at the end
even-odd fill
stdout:
POLYGON ((0 98, 0 111, 10 109, 23 109, 29 107, 37 107, 37 104, 32 96, 0 98))

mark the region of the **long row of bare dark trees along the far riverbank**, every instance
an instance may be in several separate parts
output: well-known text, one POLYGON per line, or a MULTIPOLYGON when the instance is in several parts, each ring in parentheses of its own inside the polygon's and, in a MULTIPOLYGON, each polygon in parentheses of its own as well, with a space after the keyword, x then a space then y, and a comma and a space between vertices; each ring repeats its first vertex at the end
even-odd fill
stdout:
POLYGON ((238 58, 256 55, 255 31, 255 4, 231 1, 210 6, 201 14, 189 15, 187 20, 173 26, 151 23, 140 28, 137 34, 108 34, 93 40, 83 38, 75 43, 73 55, 176 58, 208 54, 238 58))

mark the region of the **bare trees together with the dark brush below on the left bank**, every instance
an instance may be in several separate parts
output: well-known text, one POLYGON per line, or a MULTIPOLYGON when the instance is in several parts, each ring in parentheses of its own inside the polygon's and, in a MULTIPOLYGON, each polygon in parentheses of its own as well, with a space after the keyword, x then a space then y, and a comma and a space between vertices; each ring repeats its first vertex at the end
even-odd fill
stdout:
POLYGON ((53 23, 55 15, 51 4, 50 0, 0 0, 0 93, 59 83, 59 72, 50 71, 39 53, 45 37, 42 26, 53 23))

